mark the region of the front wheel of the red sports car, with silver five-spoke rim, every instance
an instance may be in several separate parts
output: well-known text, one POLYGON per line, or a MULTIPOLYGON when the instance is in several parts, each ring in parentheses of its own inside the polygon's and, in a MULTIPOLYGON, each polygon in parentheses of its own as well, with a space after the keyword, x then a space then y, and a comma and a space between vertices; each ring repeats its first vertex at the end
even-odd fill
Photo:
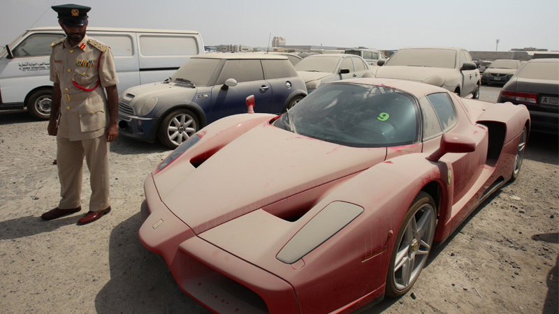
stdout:
POLYGON ((406 294, 419 278, 433 246, 436 225, 435 201, 421 191, 409 207, 394 242, 386 277, 387 296, 406 294))

